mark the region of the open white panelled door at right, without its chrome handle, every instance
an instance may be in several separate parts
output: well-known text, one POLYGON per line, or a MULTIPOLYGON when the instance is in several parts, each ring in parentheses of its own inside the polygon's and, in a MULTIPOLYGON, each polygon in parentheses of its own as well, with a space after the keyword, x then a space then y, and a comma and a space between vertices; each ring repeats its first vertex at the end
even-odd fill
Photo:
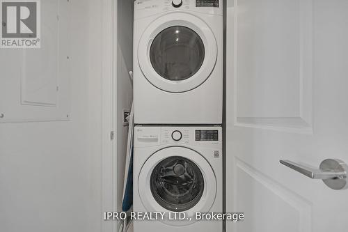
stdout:
POLYGON ((228 4, 226 231, 347 231, 348 190, 279 160, 348 162, 348 1, 228 4))

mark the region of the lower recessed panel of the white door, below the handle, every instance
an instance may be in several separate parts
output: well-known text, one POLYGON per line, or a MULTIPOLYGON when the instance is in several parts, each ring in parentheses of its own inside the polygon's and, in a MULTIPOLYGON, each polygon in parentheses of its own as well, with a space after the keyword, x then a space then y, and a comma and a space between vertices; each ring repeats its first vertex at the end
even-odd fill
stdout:
POLYGON ((234 169, 235 204, 246 217, 235 231, 310 231, 309 201, 238 158, 234 169))

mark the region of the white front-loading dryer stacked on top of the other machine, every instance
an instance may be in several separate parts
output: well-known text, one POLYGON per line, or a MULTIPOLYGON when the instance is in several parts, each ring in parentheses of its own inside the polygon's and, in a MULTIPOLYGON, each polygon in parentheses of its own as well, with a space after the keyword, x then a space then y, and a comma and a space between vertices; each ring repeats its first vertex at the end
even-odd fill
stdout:
POLYGON ((134 2, 134 123, 221 124, 222 0, 134 2))

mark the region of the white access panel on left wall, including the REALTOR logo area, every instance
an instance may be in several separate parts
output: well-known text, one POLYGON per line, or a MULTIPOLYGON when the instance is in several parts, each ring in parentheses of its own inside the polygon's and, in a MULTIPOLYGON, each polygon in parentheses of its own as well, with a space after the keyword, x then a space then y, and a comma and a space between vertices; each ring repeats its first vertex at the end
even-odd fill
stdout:
POLYGON ((0 75, 0 123, 69 120, 71 3, 33 0, 20 4, 1 2, 1 12, 7 13, 3 25, 7 27, 3 26, 1 38, 6 47, 0 48, 4 67, 0 75), (11 26, 23 15, 29 21, 11 26))

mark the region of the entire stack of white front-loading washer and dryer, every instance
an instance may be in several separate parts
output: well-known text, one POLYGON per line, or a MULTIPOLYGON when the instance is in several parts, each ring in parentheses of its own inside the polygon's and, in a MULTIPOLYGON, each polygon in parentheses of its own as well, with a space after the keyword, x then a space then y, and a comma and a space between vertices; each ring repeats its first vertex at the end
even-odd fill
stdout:
POLYGON ((136 0, 134 232, 222 231, 222 111, 222 0, 136 0))

